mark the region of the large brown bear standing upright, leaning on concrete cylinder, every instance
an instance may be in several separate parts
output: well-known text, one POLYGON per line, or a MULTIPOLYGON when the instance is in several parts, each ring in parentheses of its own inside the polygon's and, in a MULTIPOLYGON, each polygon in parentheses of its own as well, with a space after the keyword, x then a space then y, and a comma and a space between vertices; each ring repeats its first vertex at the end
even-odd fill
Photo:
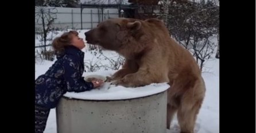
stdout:
POLYGON ((160 19, 111 18, 84 34, 88 44, 125 57, 122 69, 107 79, 113 84, 139 87, 168 82, 167 128, 177 112, 181 132, 193 133, 205 96, 204 80, 191 53, 170 37, 160 19))

